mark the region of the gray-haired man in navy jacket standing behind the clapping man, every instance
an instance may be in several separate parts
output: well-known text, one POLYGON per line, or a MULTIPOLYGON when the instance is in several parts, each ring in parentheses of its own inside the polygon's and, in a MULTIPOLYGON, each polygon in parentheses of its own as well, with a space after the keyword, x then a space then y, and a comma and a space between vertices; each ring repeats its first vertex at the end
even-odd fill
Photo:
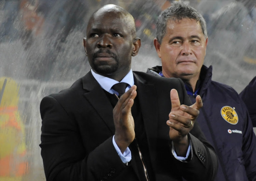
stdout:
POLYGON ((256 137, 246 106, 237 92, 212 81, 212 66, 203 65, 208 43, 204 18, 194 8, 173 2, 157 20, 154 45, 162 66, 147 72, 181 78, 192 102, 204 106, 197 118, 219 156, 216 180, 256 180, 256 137))

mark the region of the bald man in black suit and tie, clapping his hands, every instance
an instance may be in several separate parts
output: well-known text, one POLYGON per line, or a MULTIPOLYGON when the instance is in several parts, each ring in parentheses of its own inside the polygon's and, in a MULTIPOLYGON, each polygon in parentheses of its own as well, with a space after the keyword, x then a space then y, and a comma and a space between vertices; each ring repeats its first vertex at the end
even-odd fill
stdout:
POLYGON ((195 122, 201 98, 187 106, 180 79, 131 71, 140 48, 133 17, 105 5, 86 35, 91 71, 40 105, 46 179, 212 180, 217 157, 195 122))

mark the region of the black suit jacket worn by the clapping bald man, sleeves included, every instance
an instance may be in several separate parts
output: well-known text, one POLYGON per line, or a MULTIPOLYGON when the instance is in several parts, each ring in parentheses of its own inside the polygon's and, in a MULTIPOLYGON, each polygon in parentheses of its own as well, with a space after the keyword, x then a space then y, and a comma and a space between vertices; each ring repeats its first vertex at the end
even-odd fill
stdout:
MULTIPOLYGON (((189 133, 192 159, 176 160, 170 151, 170 90, 179 92, 181 104, 190 104, 183 82, 143 72, 133 72, 137 85, 148 149, 152 180, 212 180, 217 157, 198 124, 189 133)), ((138 160, 126 166, 119 158, 112 137, 115 133, 113 107, 91 72, 69 89, 43 98, 41 155, 47 180, 136 181, 138 160)))

